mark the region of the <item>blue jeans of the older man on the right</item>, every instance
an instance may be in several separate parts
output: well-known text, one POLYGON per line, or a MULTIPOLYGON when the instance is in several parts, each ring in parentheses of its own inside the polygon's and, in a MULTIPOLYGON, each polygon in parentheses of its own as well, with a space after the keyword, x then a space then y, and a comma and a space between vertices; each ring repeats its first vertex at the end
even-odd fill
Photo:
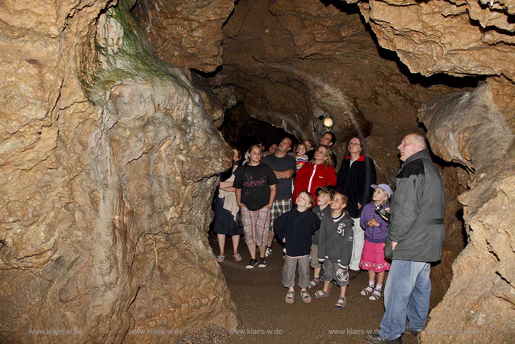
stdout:
POLYGON ((416 331, 424 328, 429 312, 431 281, 429 263, 393 259, 386 280, 385 315, 379 335, 386 340, 400 337, 407 326, 416 331))

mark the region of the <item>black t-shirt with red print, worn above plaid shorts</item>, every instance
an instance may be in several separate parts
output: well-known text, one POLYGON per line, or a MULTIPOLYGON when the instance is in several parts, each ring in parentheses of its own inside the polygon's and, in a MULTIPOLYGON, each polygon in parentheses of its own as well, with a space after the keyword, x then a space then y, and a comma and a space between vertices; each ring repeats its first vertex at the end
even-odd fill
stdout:
POLYGON ((234 171, 233 187, 242 189, 240 201, 247 209, 256 211, 270 201, 270 185, 277 184, 276 174, 272 169, 260 163, 258 166, 245 164, 234 171))

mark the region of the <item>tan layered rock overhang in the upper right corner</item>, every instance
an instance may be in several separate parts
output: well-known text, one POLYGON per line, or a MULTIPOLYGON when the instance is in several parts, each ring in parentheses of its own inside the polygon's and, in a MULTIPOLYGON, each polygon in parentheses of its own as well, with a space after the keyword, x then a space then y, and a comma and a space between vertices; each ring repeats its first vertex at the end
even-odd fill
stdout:
POLYGON ((372 0, 358 5, 379 44, 395 51, 413 73, 515 78, 512 1, 372 0))

